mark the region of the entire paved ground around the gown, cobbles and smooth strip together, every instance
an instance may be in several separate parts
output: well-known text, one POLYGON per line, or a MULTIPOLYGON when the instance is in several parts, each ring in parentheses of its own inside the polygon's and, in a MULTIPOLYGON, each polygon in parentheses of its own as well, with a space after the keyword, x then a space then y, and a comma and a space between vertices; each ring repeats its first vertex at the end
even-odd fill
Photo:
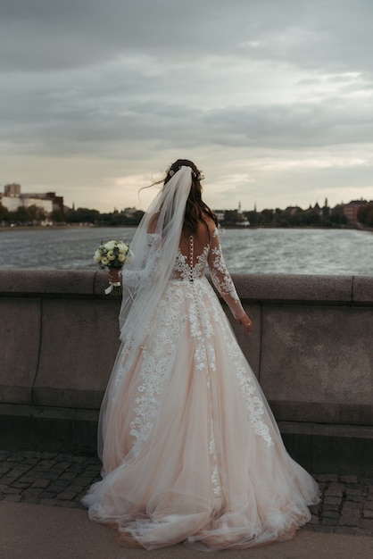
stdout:
POLYGON ((0 450, 0 559, 373 558, 369 477, 317 475, 321 502, 293 540, 206 555, 183 545, 152 552, 119 546, 115 532, 89 521, 80 505, 99 471, 95 457, 0 450))

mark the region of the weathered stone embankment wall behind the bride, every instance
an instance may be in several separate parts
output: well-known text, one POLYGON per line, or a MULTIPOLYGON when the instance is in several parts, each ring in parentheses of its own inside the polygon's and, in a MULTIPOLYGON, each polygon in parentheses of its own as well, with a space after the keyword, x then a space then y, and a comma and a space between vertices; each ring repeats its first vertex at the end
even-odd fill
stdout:
MULTIPOLYGON (((233 278, 253 335, 232 326, 289 450, 313 470, 326 451, 340 471, 372 469, 373 279, 233 278)), ((0 271, 0 447, 94 452, 119 347, 106 285, 100 271, 0 271)))

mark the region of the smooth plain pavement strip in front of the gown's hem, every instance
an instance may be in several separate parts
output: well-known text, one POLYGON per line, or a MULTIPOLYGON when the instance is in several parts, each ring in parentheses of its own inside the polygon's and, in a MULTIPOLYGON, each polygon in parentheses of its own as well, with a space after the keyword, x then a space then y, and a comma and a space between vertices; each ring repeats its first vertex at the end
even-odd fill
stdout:
POLYGON ((300 530, 294 539, 205 554, 178 545, 155 551, 117 544, 113 530, 79 509, 0 503, 1 559, 370 559, 373 538, 300 530))

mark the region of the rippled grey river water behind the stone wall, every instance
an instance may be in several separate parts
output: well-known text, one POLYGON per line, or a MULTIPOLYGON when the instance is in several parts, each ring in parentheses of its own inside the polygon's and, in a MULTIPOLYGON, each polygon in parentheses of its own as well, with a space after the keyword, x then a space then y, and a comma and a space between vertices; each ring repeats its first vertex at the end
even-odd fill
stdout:
MULTIPOLYGON (((130 243, 135 229, 0 229, 0 269, 94 270, 102 240, 130 243)), ((232 273, 373 275, 373 233, 355 229, 226 229, 232 273)))

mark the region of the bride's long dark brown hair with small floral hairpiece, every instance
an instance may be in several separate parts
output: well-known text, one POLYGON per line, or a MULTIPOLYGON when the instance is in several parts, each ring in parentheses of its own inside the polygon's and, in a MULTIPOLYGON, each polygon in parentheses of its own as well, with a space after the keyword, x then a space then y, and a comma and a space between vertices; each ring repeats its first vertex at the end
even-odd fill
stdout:
POLYGON ((197 230, 198 222, 203 221, 206 225, 205 217, 208 216, 218 225, 218 218, 215 213, 209 208, 202 199, 202 186, 201 186, 201 171, 199 171, 193 163, 188 159, 178 159, 175 163, 170 165, 167 171, 166 179, 164 179, 164 186, 169 182, 170 178, 180 169, 180 167, 190 167, 192 170, 192 186, 190 188, 189 196, 187 197, 186 213, 184 215, 183 231, 186 233, 195 233, 197 230))

